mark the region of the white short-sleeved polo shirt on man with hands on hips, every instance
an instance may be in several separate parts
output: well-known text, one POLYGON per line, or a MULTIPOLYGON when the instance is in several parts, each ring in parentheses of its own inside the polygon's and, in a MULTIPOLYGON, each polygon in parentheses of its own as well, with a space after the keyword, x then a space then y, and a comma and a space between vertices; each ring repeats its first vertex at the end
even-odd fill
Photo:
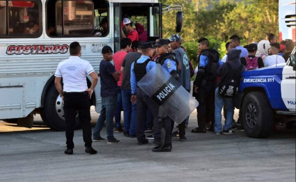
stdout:
POLYGON ((94 72, 92 65, 79 56, 70 56, 59 63, 54 76, 62 77, 65 92, 83 92, 88 89, 86 76, 94 72))

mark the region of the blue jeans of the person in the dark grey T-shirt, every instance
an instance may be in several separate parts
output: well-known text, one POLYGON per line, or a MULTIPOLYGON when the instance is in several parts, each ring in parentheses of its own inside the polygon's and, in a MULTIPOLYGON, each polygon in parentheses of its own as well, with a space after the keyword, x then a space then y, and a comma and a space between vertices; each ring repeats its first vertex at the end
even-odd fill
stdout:
POLYGON ((129 135, 136 134, 137 105, 131 103, 131 90, 121 89, 124 118, 124 131, 129 135))

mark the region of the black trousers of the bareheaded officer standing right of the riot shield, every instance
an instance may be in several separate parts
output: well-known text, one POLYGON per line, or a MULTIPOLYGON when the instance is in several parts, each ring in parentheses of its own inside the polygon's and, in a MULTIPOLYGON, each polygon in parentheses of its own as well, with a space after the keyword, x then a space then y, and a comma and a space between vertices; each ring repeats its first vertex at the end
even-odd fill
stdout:
POLYGON ((211 121, 211 125, 215 123, 215 88, 209 89, 198 88, 197 94, 197 120, 199 128, 206 128, 206 122, 211 121))

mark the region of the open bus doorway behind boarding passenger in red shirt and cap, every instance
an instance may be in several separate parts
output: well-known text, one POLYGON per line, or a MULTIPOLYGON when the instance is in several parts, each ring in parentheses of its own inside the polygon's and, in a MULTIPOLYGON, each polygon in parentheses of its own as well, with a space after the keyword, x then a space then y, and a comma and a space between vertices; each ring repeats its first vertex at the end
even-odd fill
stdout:
POLYGON ((114 3, 114 52, 120 50, 124 18, 132 20, 132 26, 139 34, 139 41, 154 41, 162 37, 161 3, 114 3))

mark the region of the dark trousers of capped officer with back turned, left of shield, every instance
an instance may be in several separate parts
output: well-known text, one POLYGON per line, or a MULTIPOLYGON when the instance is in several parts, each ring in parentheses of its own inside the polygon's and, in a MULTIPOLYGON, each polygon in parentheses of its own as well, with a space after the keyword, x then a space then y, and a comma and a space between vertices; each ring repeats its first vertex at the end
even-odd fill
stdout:
POLYGON ((137 121, 136 121, 136 135, 138 142, 145 142, 145 123, 147 109, 150 110, 153 117, 154 125, 154 140, 161 141, 161 128, 158 122, 158 105, 142 91, 137 88, 137 121))

